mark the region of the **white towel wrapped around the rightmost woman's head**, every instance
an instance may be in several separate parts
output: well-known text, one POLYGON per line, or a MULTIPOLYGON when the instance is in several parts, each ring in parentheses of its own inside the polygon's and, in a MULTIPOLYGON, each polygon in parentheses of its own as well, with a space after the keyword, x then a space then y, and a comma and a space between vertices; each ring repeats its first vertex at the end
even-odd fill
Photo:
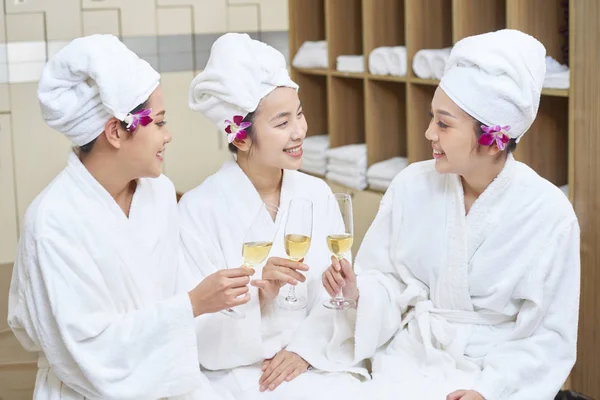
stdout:
POLYGON ((510 126, 518 142, 533 123, 546 74, 546 49, 513 29, 470 36, 450 53, 440 88, 487 126, 510 126))

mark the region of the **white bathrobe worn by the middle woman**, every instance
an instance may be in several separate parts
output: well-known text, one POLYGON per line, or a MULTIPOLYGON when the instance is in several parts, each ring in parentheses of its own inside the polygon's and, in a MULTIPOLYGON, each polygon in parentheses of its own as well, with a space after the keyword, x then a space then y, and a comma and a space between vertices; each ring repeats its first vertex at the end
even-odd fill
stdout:
MULTIPOLYGON (((325 204, 330 194, 331 189, 322 180, 297 171, 284 171, 281 208, 274 222, 274 226, 279 224, 279 229, 269 256, 286 257, 283 218, 289 201, 297 197, 312 200, 313 236, 304 260, 311 269, 305 274, 307 281, 296 287, 297 295, 307 296, 306 309, 287 311, 272 302, 263 307, 261 313, 258 290, 251 287, 250 303, 240 307, 246 314, 244 319, 220 313, 198 319, 200 363, 213 383, 229 388, 237 399, 315 398, 324 395, 327 390, 335 395, 338 390, 349 390, 352 385, 359 384, 359 380, 350 374, 313 370, 292 382, 284 382, 273 392, 261 394, 258 390, 262 362, 286 348, 296 333, 302 331, 311 310, 325 309, 322 303, 328 295, 322 287, 321 274, 331 263, 325 238, 329 227, 334 226, 336 218, 340 218, 339 214, 326 215, 325 204)), ((188 265, 197 267, 201 276, 223 268, 240 267, 244 235, 261 203, 252 182, 233 161, 225 163, 217 173, 186 193, 180 200, 179 210, 181 238, 188 265), (213 267, 204 262, 207 256, 213 267)), ((261 274, 262 267, 259 267, 253 279, 260 279, 261 274)), ((279 295, 285 296, 288 288, 284 286, 279 295)), ((295 352, 302 356, 302 350, 297 348, 295 352)), ((314 366, 326 368, 328 365, 314 366)))

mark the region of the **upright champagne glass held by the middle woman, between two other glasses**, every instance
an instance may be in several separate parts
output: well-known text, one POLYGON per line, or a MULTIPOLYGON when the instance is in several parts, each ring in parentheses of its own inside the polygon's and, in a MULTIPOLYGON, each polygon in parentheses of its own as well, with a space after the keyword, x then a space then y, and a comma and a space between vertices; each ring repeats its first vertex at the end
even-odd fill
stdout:
MULTIPOLYGON (((284 231, 284 247, 288 258, 299 261, 306 256, 312 238, 313 204, 308 199, 290 201, 284 231)), ((278 297, 277 304, 286 310, 301 310, 308 305, 305 296, 296 295, 291 285, 285 298, 278 297)))

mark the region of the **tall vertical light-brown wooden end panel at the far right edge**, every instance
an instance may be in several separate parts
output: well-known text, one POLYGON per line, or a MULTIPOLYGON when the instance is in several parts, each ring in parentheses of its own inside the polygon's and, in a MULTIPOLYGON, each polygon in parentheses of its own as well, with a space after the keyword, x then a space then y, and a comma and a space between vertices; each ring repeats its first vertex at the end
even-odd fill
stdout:
POLYGON ((572 197, 581 227, 577 364, 571 387, 600 399, 600 2, 571 0, 572 197))

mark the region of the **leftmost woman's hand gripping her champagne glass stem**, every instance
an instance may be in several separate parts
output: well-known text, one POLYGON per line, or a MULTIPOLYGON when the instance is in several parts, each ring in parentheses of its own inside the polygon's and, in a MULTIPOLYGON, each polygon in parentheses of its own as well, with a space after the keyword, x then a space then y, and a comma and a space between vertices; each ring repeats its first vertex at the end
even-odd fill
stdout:
POLYGON ((188 293, 194 317, 249 302, 248 283, 254 272, 252 268, 222 269, 207 276, 188 293))

